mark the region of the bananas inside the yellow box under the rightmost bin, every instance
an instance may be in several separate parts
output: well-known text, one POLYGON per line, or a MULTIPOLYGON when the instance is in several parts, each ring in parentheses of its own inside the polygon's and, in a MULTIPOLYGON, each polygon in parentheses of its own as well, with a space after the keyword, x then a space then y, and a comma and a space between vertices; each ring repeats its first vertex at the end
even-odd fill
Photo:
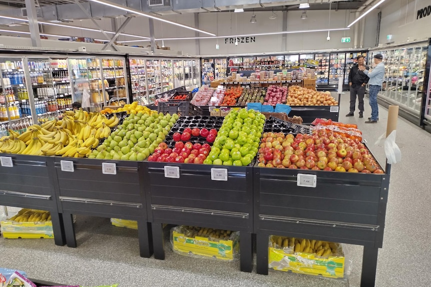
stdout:
POLYGON ((294 237, 271 236, 270 245, 274 248, 291 248, 293 252, 311 253, 320 257, 336 255, 340 251, 337 243, 294 237))

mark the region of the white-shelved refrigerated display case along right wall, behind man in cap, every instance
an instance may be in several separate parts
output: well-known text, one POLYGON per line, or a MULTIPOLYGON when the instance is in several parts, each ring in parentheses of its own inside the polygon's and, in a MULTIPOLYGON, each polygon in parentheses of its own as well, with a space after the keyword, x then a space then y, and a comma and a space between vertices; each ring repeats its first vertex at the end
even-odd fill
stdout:
POLYGON ((368 62, 374 66, 373 57, 383 55, 385 73, 378 100, 383 105, 396 104, 400 115, 413 123, 420 124, 422 90, 427 42, 372 49, 368 62))

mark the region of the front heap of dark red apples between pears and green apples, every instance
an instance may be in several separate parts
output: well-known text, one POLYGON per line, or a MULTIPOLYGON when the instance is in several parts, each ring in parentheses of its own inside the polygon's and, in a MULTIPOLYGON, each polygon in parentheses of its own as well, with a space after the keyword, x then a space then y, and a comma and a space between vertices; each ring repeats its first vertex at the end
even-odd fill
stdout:
POLYGON ((192 144, 178 141, 173 148, 167 147, 162 142, 154 149, 154 153, 148 157, 148 161, 153 162, 175 162, 175 163, 204 163, 211 147, 209 144, 192 144))

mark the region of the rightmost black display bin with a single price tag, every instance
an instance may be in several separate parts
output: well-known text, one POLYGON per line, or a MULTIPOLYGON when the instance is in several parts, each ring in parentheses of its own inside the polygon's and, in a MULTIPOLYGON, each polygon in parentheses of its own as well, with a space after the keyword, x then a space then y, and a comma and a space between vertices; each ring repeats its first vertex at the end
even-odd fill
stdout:
POLYGON ((362 245, 361 287, 374 286, 382 247, 390 165, 385 174, 253 168, 257 273, 268 274, 268 236, 362 245), (298 174, 316 187, 297 186, 298 174))

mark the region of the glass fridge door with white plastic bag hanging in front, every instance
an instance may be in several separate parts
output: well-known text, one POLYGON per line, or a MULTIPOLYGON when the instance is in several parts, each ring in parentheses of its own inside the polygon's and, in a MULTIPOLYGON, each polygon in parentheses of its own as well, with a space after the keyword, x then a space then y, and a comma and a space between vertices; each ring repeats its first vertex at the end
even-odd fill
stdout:
POLYGON ((82 108, 101 110, 106 95, 102 81, 101 61, 95 57, 68 58, 69 74, 72 76, 73 101, 82 104, 82 108))

